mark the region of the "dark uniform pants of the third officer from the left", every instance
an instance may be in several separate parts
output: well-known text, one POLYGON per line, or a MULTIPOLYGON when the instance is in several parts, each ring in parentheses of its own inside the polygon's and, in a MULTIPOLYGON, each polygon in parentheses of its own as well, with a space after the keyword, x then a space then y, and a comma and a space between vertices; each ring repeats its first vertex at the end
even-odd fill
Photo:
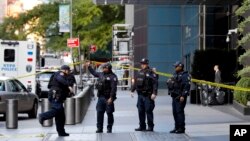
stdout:
POLYGON ((141 128, 146 128, 146 116, 148 121, 148 127, 154 128, 154 114, 155 102, 149 96, 143 96, 138 93, 137 108, 139 114, 139 124, 141 128))

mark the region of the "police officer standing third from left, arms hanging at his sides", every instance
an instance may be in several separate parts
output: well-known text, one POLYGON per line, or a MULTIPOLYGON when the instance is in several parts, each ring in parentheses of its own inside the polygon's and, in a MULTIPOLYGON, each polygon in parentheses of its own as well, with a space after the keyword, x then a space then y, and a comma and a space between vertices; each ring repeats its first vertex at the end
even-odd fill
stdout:
POLYGON ((131 92, 136 90, 138 93, 137 109, 139 114, 139 127, 135 131, 154 131, 155 98, 157 95, 158 81, 156 74, 149 67, 149 60, 143 58, 141 61, 141 70, 135 77, 131 92), (146 116, 148 128, 146 129, 146 116))

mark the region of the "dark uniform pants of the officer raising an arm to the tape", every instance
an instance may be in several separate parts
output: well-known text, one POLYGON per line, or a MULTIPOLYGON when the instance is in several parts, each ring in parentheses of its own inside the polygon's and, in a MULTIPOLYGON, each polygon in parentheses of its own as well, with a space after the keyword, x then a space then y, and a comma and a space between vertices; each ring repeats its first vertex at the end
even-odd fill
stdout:
POLYGON ((98 98, 97 104, 96 104, 96 111, 97 111, 97 128, 103 129, 103 120, 104 120, 104 113, 106 111, 108 116, 108 129, 112 129, 112 126, 114 124, 114 115, 113 112, 115 111, 114 103, 112 104, 107 103, 107 100, 104 96, 100 96, 98 98))

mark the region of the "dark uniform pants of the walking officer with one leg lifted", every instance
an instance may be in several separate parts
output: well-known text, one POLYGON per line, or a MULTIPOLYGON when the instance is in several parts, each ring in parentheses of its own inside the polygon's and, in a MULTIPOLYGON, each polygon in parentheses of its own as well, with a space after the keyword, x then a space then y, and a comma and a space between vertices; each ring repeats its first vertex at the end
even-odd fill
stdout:
POLYGON ((65 133, 65 112, 62 102, 55 100, 51 101, 51 109, 48 112, 41 114, 42 119, 47 120, 55 117, 56 130, 58 134, 65 133))

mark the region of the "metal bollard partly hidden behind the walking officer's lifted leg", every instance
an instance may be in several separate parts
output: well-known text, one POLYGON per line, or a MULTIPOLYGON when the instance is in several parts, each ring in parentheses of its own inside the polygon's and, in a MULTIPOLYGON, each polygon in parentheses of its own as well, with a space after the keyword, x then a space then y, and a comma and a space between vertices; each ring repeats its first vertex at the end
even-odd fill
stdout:
MULTIPOLYGON (((47 112, 49 111, 51 108, 51 104, 48 100, 48 98, 43 98, 42 99, 42 107, 41 107, 41 112, 44 113, 44 112, 47 112)), ((53 118, 52 119, 47 119, 43 122, 43 126, 44 127, 50 127, 53 125, 53 118)))

